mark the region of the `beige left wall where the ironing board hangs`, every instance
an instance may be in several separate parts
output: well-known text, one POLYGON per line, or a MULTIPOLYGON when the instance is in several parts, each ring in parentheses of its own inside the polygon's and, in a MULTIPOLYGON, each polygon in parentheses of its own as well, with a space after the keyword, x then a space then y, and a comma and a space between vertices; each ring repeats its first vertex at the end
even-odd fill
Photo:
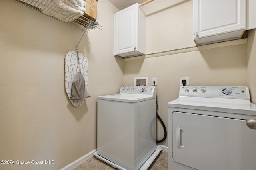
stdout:
POLYGON ((123 61, 113 57, 113 14, 98 1, 102 30, 79 45, 88 57, 91 98, 74 107, 64 88, 64 57, 83 31, 11 0, 0 1, 0 158, 54 160, 53 165, 0 165, 1 170, 57 170, 96 149, 96 99, 118 93, 123 61))

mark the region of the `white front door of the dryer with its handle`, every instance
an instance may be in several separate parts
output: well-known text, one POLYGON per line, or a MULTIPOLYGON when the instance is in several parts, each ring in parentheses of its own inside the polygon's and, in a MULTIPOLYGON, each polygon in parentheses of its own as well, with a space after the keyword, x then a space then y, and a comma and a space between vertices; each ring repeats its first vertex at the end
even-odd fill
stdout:
POLYGON ((172 158, 198 170, 254 170, 256 130, 246 120, 174 112, 172 158))

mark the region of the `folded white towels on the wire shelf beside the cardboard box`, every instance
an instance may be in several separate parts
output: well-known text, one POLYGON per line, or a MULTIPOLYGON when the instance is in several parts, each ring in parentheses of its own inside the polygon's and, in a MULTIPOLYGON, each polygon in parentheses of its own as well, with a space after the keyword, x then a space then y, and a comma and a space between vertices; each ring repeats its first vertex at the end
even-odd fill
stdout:
POLYGON ((41 12, 44 14, 50 15, 54 18, 57 18, 58 20, 64 21, 64 22, 70 22, 74 19, 83 16, 84 11, 79 10, 82 7, 76 7, 74 8, 74 4, 72 4, 70 1, 66 0, 50 0, 50 3, 46 3, 41 8, 41 12), (67 3, 66 3, 67 2, 67 3), (71 5, 72 4, 72 5, 71 5), (71 6, 70 6, 71 5, 71 6))

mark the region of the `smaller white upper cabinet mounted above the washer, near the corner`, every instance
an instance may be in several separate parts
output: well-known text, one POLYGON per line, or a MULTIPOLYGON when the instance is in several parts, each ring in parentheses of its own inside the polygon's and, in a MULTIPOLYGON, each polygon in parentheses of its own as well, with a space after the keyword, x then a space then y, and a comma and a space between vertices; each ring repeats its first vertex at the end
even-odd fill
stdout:
POLYGON ((114 14, 114 55, 146 54, 146 14, 134 4, 114 14))

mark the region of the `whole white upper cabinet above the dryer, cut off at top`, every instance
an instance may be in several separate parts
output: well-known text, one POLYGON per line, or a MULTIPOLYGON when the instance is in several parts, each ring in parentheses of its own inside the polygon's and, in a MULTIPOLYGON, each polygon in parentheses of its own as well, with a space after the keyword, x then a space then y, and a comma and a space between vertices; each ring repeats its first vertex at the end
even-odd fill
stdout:
POLYGON ((254 0, 194 0, 196 45, 239 39, 246 29, 255 28, 256 20, 250 17, 255 15, 255 12, 252 12, 256 7, 254 2, 254 0), (252 14, 249 15, 249 12, 252 14), (248 23, 251 23, 250 27, 248 23))

